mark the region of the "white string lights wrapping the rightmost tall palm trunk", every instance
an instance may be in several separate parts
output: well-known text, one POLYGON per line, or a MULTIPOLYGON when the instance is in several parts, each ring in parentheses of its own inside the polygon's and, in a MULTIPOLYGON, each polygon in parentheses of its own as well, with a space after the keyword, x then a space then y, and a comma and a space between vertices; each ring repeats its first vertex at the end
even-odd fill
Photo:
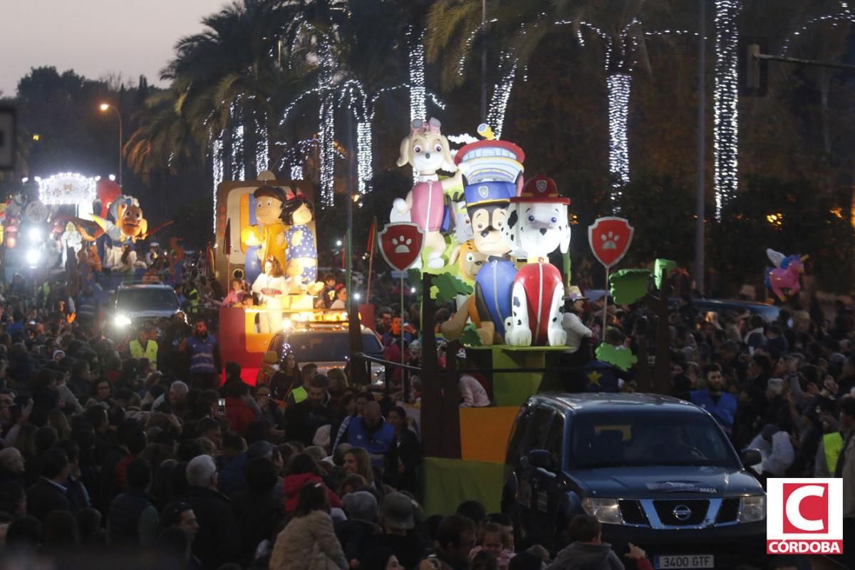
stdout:
POLYGON ((739 184, 739 32, 736 27, 739 11, 739 0, 716 0, 716 79, 713 91, 716 220, 722 219, 722 207, 734 197, 739 184))

